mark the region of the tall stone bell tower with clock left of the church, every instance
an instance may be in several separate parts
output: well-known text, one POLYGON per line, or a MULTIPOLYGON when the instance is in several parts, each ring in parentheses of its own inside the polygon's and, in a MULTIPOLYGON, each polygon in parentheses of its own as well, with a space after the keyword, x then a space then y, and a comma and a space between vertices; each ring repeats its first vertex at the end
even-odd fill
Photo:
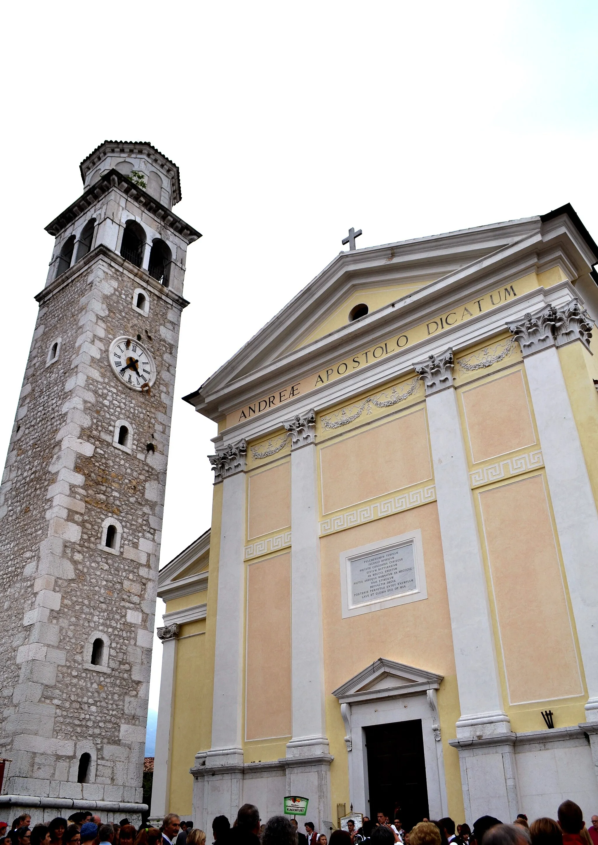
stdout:
POLYGON ((0 808, 139 820, 185 255, 178 167, 105 141, 56 238, 0 487, 0 808), (73 809, 71 809, 73 808, 73 809))

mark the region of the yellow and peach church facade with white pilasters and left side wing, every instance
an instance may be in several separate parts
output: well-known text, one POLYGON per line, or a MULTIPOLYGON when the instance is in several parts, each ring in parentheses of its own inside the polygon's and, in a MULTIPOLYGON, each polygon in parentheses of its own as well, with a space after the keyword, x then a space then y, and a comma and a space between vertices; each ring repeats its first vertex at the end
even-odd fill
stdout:
POLYGON ((595 811, 596 261, 571 206, 351 249, 185 397, 151 815, 595 811))

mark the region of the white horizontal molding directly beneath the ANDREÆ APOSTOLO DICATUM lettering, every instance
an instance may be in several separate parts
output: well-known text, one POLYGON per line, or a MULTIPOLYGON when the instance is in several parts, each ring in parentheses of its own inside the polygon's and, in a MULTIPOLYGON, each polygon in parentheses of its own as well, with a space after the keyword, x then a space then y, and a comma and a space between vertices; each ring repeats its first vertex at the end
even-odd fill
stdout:
POLYGON ((509 303, 492 308, 492 311, 478 314, 468 319, 466 323, 457 324, 441 335, 432 335, 406 347, 405 351, 380 358, 367 368, 357 369, 343 379, 335 379, 329 384, 323 384, 309 394, 286 401, 282 406, 274 406, 269 411, 264 411, 259 417, 252 417, 226 428, 213 438, 213 442, 220 447, 220 445, 236 442, 241 436, 247 440, 264 437, 275 428, 282 428, 286 419, 302 412, 307 402, 316 412, 322 411, 347 401, 351 396, 375 390, 383 382, 413 372, 413 363, 422 357, 441 354, 448 346, 453 349, 456 357, 459 350, 473 346, 493 335, 502 334, 506 331, 506 323, 517 323, 528 311, 540 311, 549 302, 560 308, 576 298, 580 298, 579 294, 569 281, 559 282, 552 286, 549 292, 546 292, 543 287, 535 288, 509 303))

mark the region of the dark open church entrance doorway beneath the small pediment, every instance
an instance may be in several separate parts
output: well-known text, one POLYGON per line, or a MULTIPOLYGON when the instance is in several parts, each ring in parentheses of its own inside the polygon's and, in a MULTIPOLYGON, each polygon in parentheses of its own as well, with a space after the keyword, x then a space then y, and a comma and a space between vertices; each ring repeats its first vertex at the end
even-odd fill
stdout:
POLYGON ((430 817, 421 719, 363 729, 372 820, 382 810, 392 823, 398 810, 403 827, 409 831, 418 821, 430 817))

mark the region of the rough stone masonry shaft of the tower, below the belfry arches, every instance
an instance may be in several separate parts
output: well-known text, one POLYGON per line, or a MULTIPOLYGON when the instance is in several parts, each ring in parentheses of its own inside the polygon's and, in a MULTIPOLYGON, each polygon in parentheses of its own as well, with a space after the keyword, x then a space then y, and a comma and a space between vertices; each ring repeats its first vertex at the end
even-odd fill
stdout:
POLYGON ((101 252, 41 302, 0 488, 5 793, 142 800, 178 303, 101 252), (140 286, 147 317, 133 308, 140 286), (153 355, 150 395, 112 373, 118 335, 153 355), (131 454, 112 445, 117 420, 133 428, 131 454), (117 553, 100 546, 108 517, 122 526, 117 553), (90 664, 99 634, 106 666, 90 664))

